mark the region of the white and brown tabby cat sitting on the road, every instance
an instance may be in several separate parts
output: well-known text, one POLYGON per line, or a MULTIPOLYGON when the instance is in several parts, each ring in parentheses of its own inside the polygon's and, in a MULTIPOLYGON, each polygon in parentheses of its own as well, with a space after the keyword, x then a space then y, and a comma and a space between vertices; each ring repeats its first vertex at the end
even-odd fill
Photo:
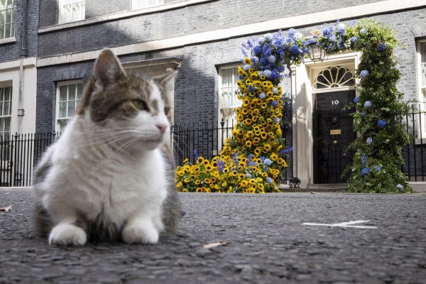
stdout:
POLYGON ((182 216, 170 154, 177 72, 126 74, 102 50, 67 129, 34 177, 35 228, 49 244, 155 244, 182 216))

